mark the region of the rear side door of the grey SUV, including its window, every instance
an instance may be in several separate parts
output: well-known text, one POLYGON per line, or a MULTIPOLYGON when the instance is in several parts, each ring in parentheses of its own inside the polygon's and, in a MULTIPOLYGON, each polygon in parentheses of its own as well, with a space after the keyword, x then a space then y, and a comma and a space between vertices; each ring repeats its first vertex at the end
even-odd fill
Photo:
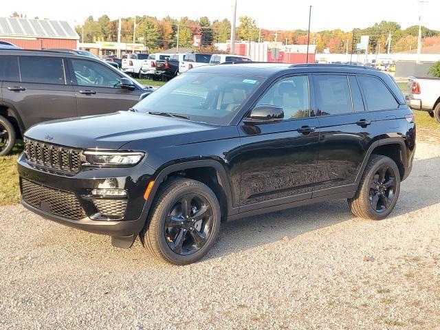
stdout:
POLYGON ((76 116, 76 96, 61 57, 10 56, 3 102, 14 107, 25 129, 46 120, 76 116), (17 75, 17 69, 18 75, 17 75))

